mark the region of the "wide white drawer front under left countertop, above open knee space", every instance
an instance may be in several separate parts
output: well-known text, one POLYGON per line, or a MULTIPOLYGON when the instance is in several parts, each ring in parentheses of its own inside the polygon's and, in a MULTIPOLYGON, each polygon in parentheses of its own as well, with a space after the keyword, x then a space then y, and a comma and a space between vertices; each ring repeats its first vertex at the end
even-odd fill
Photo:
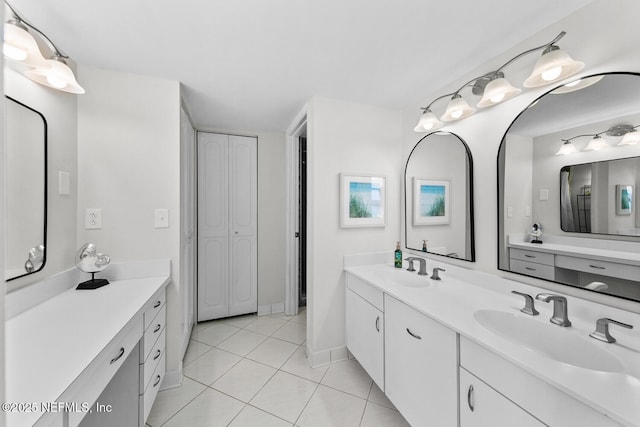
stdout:
MULTIPOLYGON (((93 405, 132 350, 138 349, 142 336, 142 317, 124 328, 100 355, 76 378, 61 396, 61 402, 87 402, 93 405)), ((135 356, 137 357, 137 356, 135 356)), ((69 426, 77 426, 86 414, 69 412, 69 426)))

